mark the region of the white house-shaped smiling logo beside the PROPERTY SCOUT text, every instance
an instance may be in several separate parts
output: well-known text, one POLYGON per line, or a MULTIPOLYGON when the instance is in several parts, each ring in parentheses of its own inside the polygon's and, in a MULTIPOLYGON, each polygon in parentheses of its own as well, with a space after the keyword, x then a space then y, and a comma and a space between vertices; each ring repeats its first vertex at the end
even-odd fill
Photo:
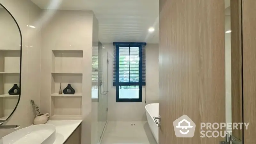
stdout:
POLYGON ((173 127, 176 137, 192 138, 195 134, 196 124, 187 115, 183 115, 173 122, 173 127))

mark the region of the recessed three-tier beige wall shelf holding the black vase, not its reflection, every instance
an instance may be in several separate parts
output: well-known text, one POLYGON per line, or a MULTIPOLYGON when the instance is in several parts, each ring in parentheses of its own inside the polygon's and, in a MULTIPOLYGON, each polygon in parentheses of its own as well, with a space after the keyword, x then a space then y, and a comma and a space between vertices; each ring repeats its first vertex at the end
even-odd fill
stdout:
POLYGON ((52 120, 76 120, 82 115, 83 51, 52 50, 51 67, 51 118, 52 120), (75 94, 59 94, 68 84, 75 94))

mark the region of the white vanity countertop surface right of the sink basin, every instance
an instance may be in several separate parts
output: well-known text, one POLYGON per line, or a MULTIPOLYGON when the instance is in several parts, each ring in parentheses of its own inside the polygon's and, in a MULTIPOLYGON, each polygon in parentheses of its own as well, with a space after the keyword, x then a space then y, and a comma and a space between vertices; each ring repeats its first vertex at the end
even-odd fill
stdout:
POLYGON ((46 124, 56 126, 54 144, 63 144, 81 123, 82 120, 49 120, 46 124))

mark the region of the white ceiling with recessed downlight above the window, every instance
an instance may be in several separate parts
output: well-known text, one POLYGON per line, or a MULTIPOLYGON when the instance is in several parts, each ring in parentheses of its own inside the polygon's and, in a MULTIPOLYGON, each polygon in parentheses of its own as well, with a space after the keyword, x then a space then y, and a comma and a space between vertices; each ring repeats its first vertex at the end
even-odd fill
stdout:
POLYGON ((102 43, 158 43, 158 0, 31 0, 41 9, 92 10, 102 43), (148 32, 154 27, 153 33, 148 32))

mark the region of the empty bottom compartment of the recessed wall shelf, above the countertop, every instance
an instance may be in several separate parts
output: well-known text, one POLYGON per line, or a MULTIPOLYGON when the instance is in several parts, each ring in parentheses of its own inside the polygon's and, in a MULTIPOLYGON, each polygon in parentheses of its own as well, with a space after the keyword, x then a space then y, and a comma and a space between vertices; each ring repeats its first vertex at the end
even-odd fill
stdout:
POLYGON ((52 97, 51 100, 51 119, 81 119, 82 97, 52 97))

